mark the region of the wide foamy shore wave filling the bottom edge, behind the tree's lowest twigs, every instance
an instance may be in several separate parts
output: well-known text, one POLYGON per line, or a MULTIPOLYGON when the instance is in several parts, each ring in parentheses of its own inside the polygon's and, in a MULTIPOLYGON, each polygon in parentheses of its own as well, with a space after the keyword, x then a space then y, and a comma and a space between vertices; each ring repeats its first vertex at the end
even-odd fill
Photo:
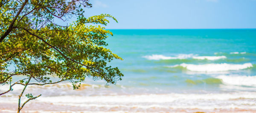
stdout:
MULTIPOLYGON (((1 106, 9 105, 15 107, 17 99, 14 97, 0 99, 0 112, 1 110, 6 109, 14 110, 12 107, 5 108, 5 106, 1 106), (12 103, 8 103, 10 101, 12 103)), ((225 94, 172 93, 100 96, 41 96, 40 98, 35 99, 33 104, 28 104, 26 106, 29 109, 25 108, 23 111, 41 110, 56 111, 56 113, 60 113, 61 111, 65 111, 65 113, 81 113, 80 111, 94 111, 92 113, 97 113, 99 111, 100 113, 125 113, 122 111, 127 111, 128 113, 138 113, 137 111, 143 111, 144 113, 159 113, 159 111, 161 111, 167 113, 169 111, 177 110, 177 113, 181 113, 179 110, 182 110, 194 113, 196 112, 194 110, 202 110, 208 113, 219 112, 223 109, 232 111, 237 109, 253 110, 256 108, 255 99, 255 92, 232 92, 225 94)), ((41 113, 41 111, 39 111, 39 113, 41 113)))

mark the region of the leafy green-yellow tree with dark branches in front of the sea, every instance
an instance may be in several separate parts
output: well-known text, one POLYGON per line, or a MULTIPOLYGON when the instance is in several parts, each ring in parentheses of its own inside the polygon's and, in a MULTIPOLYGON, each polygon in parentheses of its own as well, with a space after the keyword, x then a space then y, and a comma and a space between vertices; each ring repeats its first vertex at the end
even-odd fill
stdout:
POLYGON ((83 9, 91 6, 89 0, 0 0, 0 84, 10 86, 0 95, 12 91, 14 85, 24 86, 17 113, 26 102, 41 96, 26 94, 28 100, 21 105, 28 85, 70 81, 77 89, 85 77, 105 80, 106 86, 121 80, 119 69, 107 64, 122 60, 105 48, 105 39, 113 34, 101 26, 86 25, 107 25, 106 17, 116 19, 109 14, 84 17, 83 9), (77 20, 70 25, 55 21, 73 17, 77 20), (26 78, 12 81, 18 75, 26 78), (51 76, 60 79, 52 81, 51 76))

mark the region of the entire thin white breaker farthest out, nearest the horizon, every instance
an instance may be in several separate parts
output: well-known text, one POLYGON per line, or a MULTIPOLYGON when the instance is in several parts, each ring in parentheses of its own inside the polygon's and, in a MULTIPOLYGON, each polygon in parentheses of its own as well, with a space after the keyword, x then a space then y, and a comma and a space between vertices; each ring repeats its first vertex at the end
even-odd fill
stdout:
POLYGON ((165 55, 146 55, 143 56, 148 60, 171 60, 171 59, 198 59, 198 60, 218 60, 225 59, 226 56, 198 56, 195 54, 178 54, 176 56, 165 56, 165 55))

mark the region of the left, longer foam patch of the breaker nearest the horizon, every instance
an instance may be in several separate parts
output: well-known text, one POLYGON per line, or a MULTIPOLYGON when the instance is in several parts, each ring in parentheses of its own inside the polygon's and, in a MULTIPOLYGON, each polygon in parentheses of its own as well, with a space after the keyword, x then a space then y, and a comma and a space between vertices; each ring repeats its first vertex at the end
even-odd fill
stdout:
POLYGON ((187 59, 194 56, 193 54, 178 54, 175 57, 165 56, 165 55, 146 55, 143 58, 148 60, 169 60, 169 59, 187 59))

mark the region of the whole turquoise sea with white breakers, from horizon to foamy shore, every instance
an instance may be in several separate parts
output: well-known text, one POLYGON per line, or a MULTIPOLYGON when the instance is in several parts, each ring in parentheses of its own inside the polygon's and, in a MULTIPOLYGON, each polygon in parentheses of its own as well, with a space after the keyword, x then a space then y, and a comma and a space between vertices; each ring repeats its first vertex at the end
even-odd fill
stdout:
MULTIPOLYGON (((256 113, 256 29, 110 31, 106 48, 123 60, 108 65, 121 81, 31 85, 24 94, 42 96, 22 113, 256 113)), ((22 89, 0 96, 0 113, 17 112, 22 89)))

